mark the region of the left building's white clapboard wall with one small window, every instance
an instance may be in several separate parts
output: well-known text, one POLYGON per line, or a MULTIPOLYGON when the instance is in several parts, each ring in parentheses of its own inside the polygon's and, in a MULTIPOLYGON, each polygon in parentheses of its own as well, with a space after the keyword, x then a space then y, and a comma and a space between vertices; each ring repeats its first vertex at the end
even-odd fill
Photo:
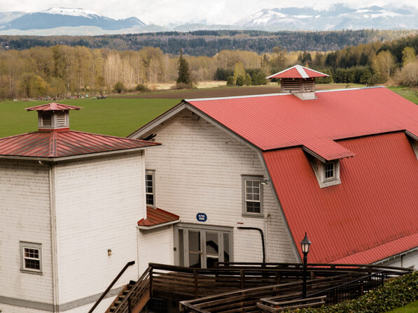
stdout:
POLYGON ((0 296, 53 303, 49 171, 37 162, 0 161, 0 296), (20 272, 20 240, 42 244, 42 275, 20 272))

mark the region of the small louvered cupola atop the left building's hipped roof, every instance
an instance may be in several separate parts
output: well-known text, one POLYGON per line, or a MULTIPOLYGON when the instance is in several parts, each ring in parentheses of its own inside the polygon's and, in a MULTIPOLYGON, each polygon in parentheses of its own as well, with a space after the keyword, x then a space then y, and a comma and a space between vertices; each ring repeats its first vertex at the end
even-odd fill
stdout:
POLYGON ((28 111, 38 111, 38 128, 40 131, 69 129, 69 110, 80 110, 74 105, 48 103, 27 108, 28 111))

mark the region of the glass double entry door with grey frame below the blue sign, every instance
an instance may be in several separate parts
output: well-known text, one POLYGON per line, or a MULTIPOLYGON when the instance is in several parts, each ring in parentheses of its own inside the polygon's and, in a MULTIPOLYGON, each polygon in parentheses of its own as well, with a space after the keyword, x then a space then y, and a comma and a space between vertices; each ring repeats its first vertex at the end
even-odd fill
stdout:
POLYGON ((232 228, 178 224, 174 232, 177 264, 213 268, 215 262, 232 262, 232 228))

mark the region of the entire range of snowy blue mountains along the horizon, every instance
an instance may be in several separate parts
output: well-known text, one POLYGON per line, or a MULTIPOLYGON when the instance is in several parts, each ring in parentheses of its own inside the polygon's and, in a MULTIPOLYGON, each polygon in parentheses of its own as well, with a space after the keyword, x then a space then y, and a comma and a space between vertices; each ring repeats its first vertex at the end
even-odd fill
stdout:
POLYGON ((169 24, 163 26, 147 25, 137 17, 115 20, 82 8, 49 8, 35 13, 0 13, 0 34, 4 35, 95 36, 220 29, 260 31, 418 29, 418 9, 399 4, 354 9, 342 3, 335 3, 323 10, 311 7, 263 8, 242 17, 233 24, 170 21, 169 24), (83 27, 87 29, 84 30, 83 27))

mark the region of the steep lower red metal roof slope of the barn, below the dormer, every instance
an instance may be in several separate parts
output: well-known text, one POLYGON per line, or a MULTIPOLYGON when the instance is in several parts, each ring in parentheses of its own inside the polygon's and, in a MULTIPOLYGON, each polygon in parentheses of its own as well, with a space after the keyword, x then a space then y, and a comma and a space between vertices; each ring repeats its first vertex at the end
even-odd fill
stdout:
POLYGON ((300 147, 263 152, 297 243, 314 263, 371 263, 418 246, 418 160, 403 132, 340 140, 341 184, 321 189, 300 147))

